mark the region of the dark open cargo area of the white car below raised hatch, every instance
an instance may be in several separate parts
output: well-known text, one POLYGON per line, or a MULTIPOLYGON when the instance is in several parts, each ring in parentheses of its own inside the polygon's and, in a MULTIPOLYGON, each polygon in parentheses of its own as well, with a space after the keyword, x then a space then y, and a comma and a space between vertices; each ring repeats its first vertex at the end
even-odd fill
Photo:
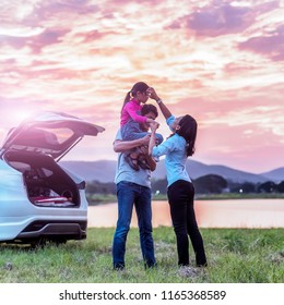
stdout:
POLYGON ((5 161, 23 173, 29 202, 38 207, 79 207, 79 185, 63 171, 52 157, 44 154, 9 151, 5 161))

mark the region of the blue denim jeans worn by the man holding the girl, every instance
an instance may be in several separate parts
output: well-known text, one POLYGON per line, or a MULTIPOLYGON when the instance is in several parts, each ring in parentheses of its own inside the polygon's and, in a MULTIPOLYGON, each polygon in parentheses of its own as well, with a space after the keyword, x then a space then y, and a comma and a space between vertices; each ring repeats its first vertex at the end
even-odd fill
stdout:
POLYGON ((118 221, 113 243, 114 268, 125 268, 127 234, 130 229, 133 205, 138 216, 140 246, 146 267, 155 265, 152 237, 151 188, 121 181, 117 184, 118 221))

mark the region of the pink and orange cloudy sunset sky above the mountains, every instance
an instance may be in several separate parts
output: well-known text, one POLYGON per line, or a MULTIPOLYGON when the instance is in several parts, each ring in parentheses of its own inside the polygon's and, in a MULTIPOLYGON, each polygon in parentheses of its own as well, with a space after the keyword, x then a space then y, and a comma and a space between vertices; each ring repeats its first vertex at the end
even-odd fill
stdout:
POLYGON ((283 1, 1 0, 0 62, 1 143, 34 111, 63 111, 106 129, 66 160, 115 160, 122 100, 144 81, 198 120, 194 160, 284 167, 283 1))

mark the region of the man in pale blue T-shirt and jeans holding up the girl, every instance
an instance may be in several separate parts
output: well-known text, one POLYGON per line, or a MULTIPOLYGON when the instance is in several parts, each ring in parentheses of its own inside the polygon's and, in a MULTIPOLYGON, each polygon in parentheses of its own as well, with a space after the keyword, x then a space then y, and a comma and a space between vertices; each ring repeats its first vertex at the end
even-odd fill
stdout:
MULTIPOLYGON (((150 107, 145 117, 155 120, 157 111, 150 107)), ((156 108, 155 108, 156 109, 156 108)), ((122 141, 120 131, 114 142, 114 150, 119 152, 115 183, 117 185, 118 220, 113 242, 113 264, 114 269, 122 270, 126 267, 126 241, 130 230, 133 206, 138 216, 138 227, 140 233, 140 246, 146 268, 156 265, 154 255, 154 242, 152 237, 152 208, 151 208, 151 171, 156 168, 155 161, 146 154, 149 169, 135 171, 129 166, 126 156, 129 149, 147 146, 150 135, 134 141, 122 141)))

